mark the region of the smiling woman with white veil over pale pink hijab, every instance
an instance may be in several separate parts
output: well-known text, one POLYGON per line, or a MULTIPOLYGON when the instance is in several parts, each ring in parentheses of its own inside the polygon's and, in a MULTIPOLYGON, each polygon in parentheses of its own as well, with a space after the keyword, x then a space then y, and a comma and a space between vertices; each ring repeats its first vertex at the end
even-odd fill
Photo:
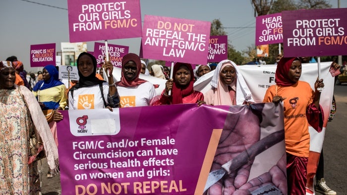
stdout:
POLYGON ((252 94, 237 65, 230 61, 221 61, 210 82, 211 89, 204 94, 208 105, 244 105, 253 103, 252 94))

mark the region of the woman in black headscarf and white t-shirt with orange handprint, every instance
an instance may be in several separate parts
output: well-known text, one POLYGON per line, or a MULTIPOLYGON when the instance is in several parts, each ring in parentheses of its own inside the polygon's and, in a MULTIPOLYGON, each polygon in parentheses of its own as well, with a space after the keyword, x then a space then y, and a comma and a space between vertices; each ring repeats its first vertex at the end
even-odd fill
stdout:
MULTIPOLYGON (((108 108, 112 111, 112 108, 119 106, 116 83, 112 76, 112 63, 105 64, 106 71, 110 70, 109 83, 96 77, 96 66, 97 61, 93 55, 83 52, 78 56, 79 80, 68 92, 69 110, 108 108)), ((61 113, 56 112, 54 120, 62 120, 61 113)))

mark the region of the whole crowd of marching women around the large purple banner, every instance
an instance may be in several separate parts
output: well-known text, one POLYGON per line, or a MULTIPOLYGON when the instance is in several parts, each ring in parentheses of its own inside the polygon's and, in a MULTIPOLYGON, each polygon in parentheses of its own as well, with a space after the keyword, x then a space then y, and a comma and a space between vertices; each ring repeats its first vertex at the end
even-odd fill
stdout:
MULTIPOLYGON (((263 100, 264 103, 283 102, 286 116, 299 114, 307 116, 297 119, 285 118, 284 121, 288 194, 292 195, 305 194, 309 152, 308 126, 311 125, 320 131, 323 123, 324 113, 319 105, 318 90, 324 87, 323 80, 317 79, 314 89, 311 89, 307 82, 299 81, 301 68, 304 68, 301 63, 310 60, 312 58, 279 58, 276 84, 268 88, 263 100), (298 104, 296 109, 291 109, 289 100, 294 97, 305 100, 305 103, 298 104)), ((333 63, 333 66, 340 68, 336 63, 333 63)), ((148 67, 145 60, 130 53, 122 59, 121 77, 117 82, 113 78, 113 68, 111 62, 105 62, 102 69, 98 69, 95 57, 83 52, 77 59, 79 80, 70 81, 70 88, 67 89, 58 79, 58 68, 55 65, 46 65, 37 74, 34 72, 27 74, 23 63, 15 56, 0 63, 0 126, 3 132, 9 130, 12 133, 0 135, 0 166, 1 170, 6 170, 0 172, 0 194, 7 194, 4 192, 35 194, 40 191, 37 163, 30 165, 25 163, 31 156, 27 151, 29 136, 36 135, 38 140, 36 150, 41 144, 44 145, 51 168, 47 177, 54 177, 58 172, 57 122, 63 120, 59 112, 61 110, 107 108, 113 111, 113 108, 185 103, 196 103, 197 106, 254 103, 242 74, 237 70, 237 65, 230 60, 218 64, 197 65, 195 69, 191 64, 175 63, 173 75, 170 75, 171 67, 163 65, 148 67), (210 82, 211 89, 205 94, 195 91, 194 81, 210 71, 214 71, 210 82), (166 79, 165 89, 161 95, 156 96, 155 86, 139 78, 140 74, 166 79), (107 78, 105 79, 107 81, 104 78, 107 78), (10 104, 7 103, 9 100, 10 104), (53 121, 49 123, 46 121, 43 114, 45 110, 55 111, 53 121), (2 119, 7 115, 6 119, 2 119), (31 119, 35 128, 30 125, 31 119), (19 136, 13 139, 14 135, 19 136), (22 147, 19 149, 15 147, 14 144, 17 143, 22 147), (21 185, 14 185, 17 183, 21 185)))

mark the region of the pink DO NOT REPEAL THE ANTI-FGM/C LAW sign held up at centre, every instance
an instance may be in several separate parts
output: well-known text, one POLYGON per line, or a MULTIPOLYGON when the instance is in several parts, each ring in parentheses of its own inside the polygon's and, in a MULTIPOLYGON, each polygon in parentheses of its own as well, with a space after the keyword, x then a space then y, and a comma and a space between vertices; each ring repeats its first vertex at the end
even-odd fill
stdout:
POLYGON ((211 22, 145 15, 143 57, 207 64, 211 22))

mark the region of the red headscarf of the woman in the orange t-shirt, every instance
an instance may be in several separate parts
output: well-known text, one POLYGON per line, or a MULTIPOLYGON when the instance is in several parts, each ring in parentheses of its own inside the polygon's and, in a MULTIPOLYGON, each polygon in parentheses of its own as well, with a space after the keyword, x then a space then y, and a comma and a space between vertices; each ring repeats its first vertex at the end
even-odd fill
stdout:
POLYGON ((278 62, 275 73, 276 84, 281 86, 290 86, 295 84, 295 82, 290 80, 288 76, 289 68, 294 60, 300 61, 298 58, 281 58, 281 60, 278 62))

